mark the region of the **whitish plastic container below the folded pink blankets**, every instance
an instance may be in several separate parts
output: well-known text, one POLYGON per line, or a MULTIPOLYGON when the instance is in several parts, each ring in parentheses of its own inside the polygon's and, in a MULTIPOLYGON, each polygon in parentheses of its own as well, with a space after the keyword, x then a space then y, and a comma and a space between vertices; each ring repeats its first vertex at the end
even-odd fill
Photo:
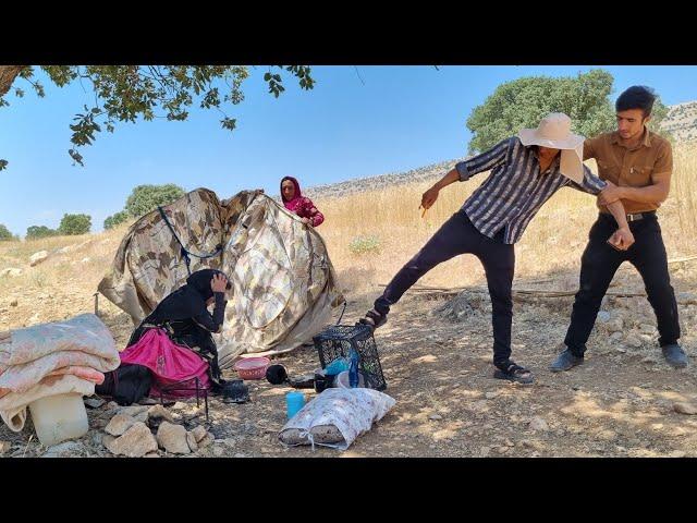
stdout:
POLYGON ((89 429, 82 394, 50 396, 29 403, 36 435, 44 447, 81 438, 89 429))

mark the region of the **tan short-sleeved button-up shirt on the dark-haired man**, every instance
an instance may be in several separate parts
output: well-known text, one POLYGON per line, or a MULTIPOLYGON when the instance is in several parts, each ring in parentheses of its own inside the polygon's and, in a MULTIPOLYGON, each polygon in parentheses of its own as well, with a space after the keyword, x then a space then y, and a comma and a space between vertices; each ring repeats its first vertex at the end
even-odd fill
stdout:
MULTIPOLYGON (((645 127, 644 139, 634 148, 620 145, 620 133, 604 133, 584 143, 584 160, 595 158, 598 175, 617 186, 646 187, 653 183, 653 177, 670 175, 673 172, 673 149, 671 143, 645 127)), ((656 210, 660 202, 644 204, 622 199, 627 214, 656 210)), ((608 212, 607 208, 599 206, 608 212)))

